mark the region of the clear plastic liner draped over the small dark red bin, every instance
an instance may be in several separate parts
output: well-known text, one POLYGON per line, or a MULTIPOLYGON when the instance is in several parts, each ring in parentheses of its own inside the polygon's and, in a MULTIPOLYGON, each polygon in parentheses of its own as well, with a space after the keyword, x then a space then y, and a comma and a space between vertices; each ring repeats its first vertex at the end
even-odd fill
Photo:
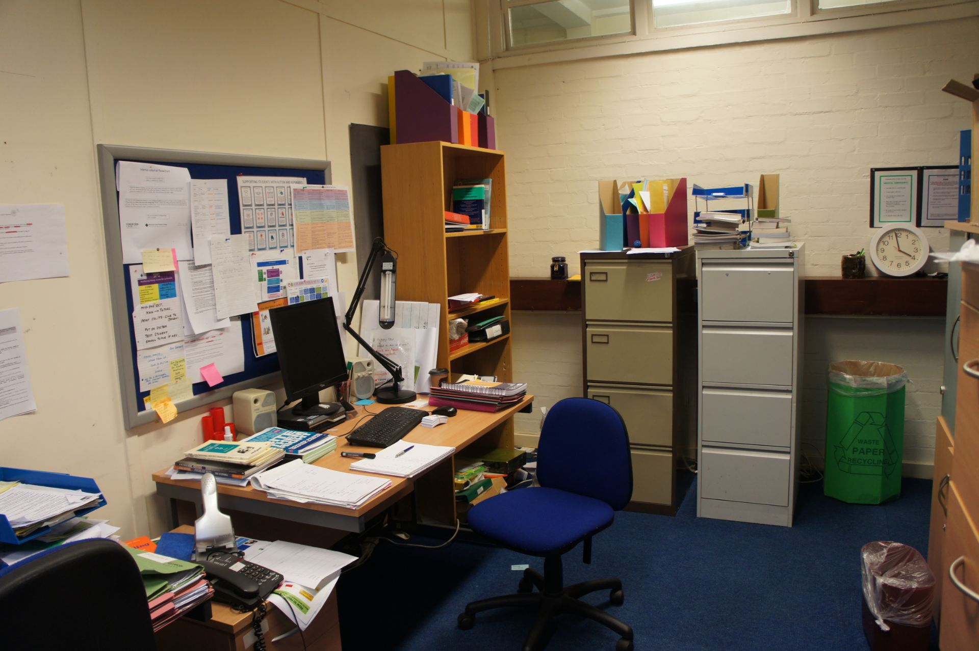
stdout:
POLYGON ((867 542, 861 571, 863 599, 881 630, 930 627, 935 575, 917 549, 901 542, 867 542))

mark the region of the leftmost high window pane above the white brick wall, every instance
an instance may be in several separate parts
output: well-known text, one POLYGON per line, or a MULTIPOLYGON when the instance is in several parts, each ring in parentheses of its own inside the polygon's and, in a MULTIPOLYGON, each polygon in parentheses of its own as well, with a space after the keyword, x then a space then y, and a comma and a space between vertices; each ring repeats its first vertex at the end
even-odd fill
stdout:
POLYGON ((632 32, 629 0, 509 0, 507 9, 510 47, 632 32))

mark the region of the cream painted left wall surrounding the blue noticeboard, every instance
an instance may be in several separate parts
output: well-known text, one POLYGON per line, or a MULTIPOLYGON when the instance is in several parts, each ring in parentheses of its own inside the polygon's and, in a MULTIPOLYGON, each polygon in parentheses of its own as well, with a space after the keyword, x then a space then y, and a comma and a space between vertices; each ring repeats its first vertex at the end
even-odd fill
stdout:
MULTIPOLYGON (((70 257, 68 279, 0 284, 38 406, 0 421, 0 463, 95 477, 121 535, 159 534, 150 475, 199 442, 204 408, 123 428, 95 145, 327 158, 349 185, 350 122, 387 126, 393 70, 470 60, 470 4, 53 4, 0 3, 0 202, 65 203, 70 257)), ((349 295, 356 261, 338 257, 349 295)))

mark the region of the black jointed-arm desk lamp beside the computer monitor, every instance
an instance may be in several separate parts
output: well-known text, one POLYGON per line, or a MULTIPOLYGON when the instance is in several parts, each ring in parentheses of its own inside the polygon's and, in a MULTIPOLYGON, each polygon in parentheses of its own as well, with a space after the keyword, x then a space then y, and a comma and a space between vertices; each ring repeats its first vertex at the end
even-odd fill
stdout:
POLYGON ((389 389, 382 388, 375 392, 377 402, 382 405, 402 405, 414 400, 416 394, 414 391, 401 388, 401 382, 404 381, 401 367, 396 365, 388 357, 374 350, 370 344, 357 334, 356 330, 350 327, 350 322, 353 321, 353 314, 357 311, 357 306, 360 304, 360 296, 364 293, 364 289, 367 286, 367 278, 370 276, 370 272, 374 268, 374 263, 377 261, 378 256, 381 257, 381 301, 378 309, 378 322, 386 330, 395 325, 397 251, 389 247, 383 238, 375 238, 374 243, 371 245, 370 254, 367 256, 367 262, 364 264, 363 271, 360 272, 360 281, 357 282, 356 291, 353 292, 350 309, 347 310, 347 318, 344 320, 344 329, 350 332, 350 335, 356 339, 357 343, 364 350, 371 354, 371 357, 377 360, 378 364, 391 373, 391 379, 389 381, 393 385, 389 389))

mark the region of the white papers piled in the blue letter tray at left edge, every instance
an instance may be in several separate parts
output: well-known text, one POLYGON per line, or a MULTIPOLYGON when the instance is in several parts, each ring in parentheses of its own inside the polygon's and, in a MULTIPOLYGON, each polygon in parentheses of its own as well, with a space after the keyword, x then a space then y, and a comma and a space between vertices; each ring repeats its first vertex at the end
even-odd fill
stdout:
POLYGON ((18 538, 42 527, 53 527, 75 516, 75 511, 97 505, 99 493, 35 486, 23 482, 0 482, 0 515, 18 538))

